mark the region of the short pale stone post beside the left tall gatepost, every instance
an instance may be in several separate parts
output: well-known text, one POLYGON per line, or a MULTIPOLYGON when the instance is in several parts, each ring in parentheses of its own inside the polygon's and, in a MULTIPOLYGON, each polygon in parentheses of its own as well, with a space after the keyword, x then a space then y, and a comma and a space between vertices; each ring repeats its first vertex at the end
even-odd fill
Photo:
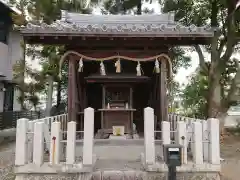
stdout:
POLYGON ((67 125, 67 156, 66 163, 74 164, 75 163, 75 151, 76 151, 76 122, 71 121, 67 125))

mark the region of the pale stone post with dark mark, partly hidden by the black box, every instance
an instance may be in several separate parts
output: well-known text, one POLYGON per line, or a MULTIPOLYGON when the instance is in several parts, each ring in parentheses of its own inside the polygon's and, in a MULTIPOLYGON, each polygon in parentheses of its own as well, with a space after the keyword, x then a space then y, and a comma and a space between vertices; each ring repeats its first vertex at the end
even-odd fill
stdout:
POLYGON ((177 132, 176 132, 176 142, 177 144, 181 144, 183 146, 183 159, 182 163, 187 164, 187 125, 184 121, 177 122, 177 132))

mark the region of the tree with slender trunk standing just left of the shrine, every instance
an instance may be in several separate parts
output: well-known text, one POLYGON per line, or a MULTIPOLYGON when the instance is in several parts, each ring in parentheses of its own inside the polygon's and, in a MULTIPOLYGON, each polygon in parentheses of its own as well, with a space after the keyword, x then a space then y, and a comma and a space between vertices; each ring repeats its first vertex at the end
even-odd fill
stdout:
MULTIPOLYGON (((93 2, 92 2, 93 3, 93 2)), ((28 13, 30 15, 31 21, 35 23, 47 23, 51 24, 57 18, 59 18, 60 10, 65 9, 68 11, 79 12, 79 13, 91 13, 91 8, 83 9, 81 1, 49 1, 49 0, 33 0, 29 1, 28 4, 28 13)), ((44 86, 44 89, 39 89, 39 91, 48 88, 47 96, 47 115, 50 115, 50 110, 52 107, 52 95, 54 84, 57 82, 57 107, 61 103, 61 91, 63 90, 63 85, 65 83, 58 77, 59 72, 59 60, 61 55, 63 54, 64 47, 60 46, 40 46, 33 48, 28 48, 28 55, 32 56, 33 59, 38 58, 41 62, 42 70, 40 72, 35 72, 32 77, 37 81, 38 87, 44 86), (37 78, 37 79, 36 79, 37 78), (48 83, 45 83, 45 82, 48 83), (44 85, 45 84, 45 85, 44 85)), ((66 86, 65 86, 66 87, 66 86)))

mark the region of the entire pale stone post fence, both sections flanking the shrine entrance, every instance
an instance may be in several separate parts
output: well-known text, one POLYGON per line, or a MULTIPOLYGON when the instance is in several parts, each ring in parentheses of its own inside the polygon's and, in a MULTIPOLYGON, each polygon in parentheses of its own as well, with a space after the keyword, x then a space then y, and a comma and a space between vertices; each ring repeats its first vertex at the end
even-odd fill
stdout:
MULTIPOLYGON (((171 115, 171 122, 162 122, 162 144, 178 143, 183 145, 183 163, 193 162, 202 164, 204 161, 210 164, 220 164, 219 121, 217 119, 193 120, 185 118, 180 120, 176 115, 171 115), (174 127, 174 128, 171 128, 174 127), (171 139, 174 133, 174 139, 171 139), (205 137, 206 136, 206 137, 205 137), (205 140, 207 139, 207 140, 205 140), (188 157, 188 148, 193 156, 188 157)), ((44 163, 44 140, 49 144, 48 163, 76 164, 76 122, 68 122, 67 115, 59 115, 29 121, 19 119, 16 132, 16 158, 17 166, 33 163, 44 163), (50 132, 49 132, 50 130, 50 132), (66 157, 62 157, 62 144, 65 133, 66 157), (29 139, 28 135, 31 134, 29 139), (46 135, 47 134, 47 135, 46 135), (48 137, 47 137, 48 136, 48 137)), ((155 136, 154 136, 154 110, 150 107, 144 109, 144 149, 145 163, 156 163, 155 136)), ((84 137, 82 164, 93 163, 94 140, 94 110, 84 110, 84 137)), ((128 140, 129 141, 129 140, 128 140)))

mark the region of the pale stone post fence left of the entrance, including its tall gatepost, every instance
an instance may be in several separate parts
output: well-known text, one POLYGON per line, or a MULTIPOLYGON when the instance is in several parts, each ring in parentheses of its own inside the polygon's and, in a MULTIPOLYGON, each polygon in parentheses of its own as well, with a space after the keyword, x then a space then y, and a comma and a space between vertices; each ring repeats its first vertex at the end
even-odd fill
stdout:
MULTIPOLYGON (((74 164, 76 162, 76 122, 67 122, 67 120, 66 114, 35 121, 29 121, 25 118, 19 119, 16 130, 15 165, 29 163, 42 165, 45 162, 44 157, 46 155, 44 152, 44 139, 49 140, 50 155, 48 162, 50 164, 60 164, 60 161, 66 164, 74 164), (65 143, 63 133, 65 131, 67 132, 67 148, 66 157, 62 160, 63 143, 65 143), (32 134, 32 139, 28 138, 28 134, 32 134), (48 137, 46 138, 46 136, 48 137)), ((84 110, 84 129, 87 129, 87 131, 84 131, 83 164, 92 164, 93 126, 94 110, 86 108, 84 110)))

